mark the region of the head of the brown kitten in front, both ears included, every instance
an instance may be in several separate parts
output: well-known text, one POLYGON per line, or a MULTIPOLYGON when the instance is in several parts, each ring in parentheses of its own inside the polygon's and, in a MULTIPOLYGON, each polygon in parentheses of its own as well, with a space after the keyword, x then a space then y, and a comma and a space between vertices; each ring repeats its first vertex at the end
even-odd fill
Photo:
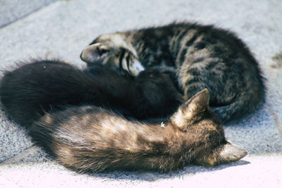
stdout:
POLYGON ((226 141, 219 118, 209 109, 208 89, 180 106, 171 116, 171 123, 185 132, 188 143, 192 143, 194 163, 213 166, 238 161, 247 155, 245 149, 226 141))

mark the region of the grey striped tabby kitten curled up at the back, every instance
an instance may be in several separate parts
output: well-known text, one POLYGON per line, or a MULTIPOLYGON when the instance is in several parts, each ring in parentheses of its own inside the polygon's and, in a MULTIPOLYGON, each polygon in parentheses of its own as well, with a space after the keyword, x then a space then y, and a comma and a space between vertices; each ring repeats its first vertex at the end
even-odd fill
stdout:
POLYGON ((171 23, 100 35, 80 58, 137 76, 147 68, 170 73, 185 100, 207 88, 223 123, 240 120, 264 102, 259 64, 233 32, 213 25, 171 23))

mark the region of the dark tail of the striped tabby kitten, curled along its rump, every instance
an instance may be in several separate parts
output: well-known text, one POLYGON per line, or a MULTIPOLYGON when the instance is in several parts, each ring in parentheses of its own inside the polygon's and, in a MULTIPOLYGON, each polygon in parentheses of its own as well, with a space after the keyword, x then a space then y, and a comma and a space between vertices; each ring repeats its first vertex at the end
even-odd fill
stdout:
POLYGON ((265 87, 259 87, 238 94, 231 104, 220 107, 212 107, 212 110, 219 116, 222 123, 231 123, 254 113, 264 103, 265 87))

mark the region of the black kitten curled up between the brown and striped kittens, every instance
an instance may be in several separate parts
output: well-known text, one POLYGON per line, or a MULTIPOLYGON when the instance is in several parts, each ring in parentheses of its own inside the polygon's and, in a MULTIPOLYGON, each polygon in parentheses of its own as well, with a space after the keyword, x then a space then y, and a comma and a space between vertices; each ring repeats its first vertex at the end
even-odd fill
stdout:
POLYGON ((27 127, 66 105, 102 106, 141 120, 171 115, 183 103, 169 76, 157 70, 126 77, 102 65, 80 70, 62 61, 33 61, 7 71, 0 96, 11 118, 27 127))

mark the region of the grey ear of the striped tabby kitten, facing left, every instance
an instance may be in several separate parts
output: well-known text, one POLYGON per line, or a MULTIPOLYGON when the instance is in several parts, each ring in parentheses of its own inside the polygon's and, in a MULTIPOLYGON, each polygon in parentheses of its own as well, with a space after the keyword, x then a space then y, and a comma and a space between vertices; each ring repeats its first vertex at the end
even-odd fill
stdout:
POLYGON ((109 50, 109 46, 98 42, 87 46, 80 54, 80 58, 86 63, 102 63, 109 50))

